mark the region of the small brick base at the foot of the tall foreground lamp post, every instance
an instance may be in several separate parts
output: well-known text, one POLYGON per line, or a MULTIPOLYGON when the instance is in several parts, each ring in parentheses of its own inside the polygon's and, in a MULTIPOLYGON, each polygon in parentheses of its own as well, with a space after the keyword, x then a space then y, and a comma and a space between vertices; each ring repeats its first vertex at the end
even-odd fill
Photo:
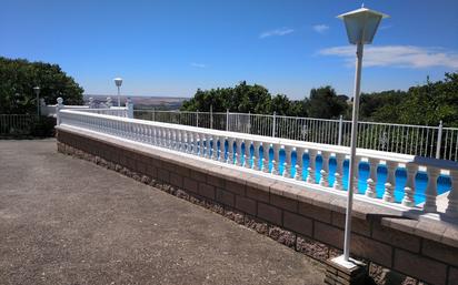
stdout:
POLYGON ((345 261, 344 255, 326 261, 327 285, 364 285, 369 278, 367 265, 354 258, 345 261))

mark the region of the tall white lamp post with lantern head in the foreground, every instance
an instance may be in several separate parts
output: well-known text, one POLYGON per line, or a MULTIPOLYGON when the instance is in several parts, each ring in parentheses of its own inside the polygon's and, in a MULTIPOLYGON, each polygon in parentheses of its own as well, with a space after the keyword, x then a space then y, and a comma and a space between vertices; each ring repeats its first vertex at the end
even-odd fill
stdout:
POLYGON ((361 64, 362 50, 365 44, 372 42, 374 35, 381 19, 387 18, 387 14, 369 10, 365 7, 338 16, 344 20, 347 29, 348 40, 351 44, 357 45, 356 51, 356 72, 355 72, 355 94, 354 94, 354 110, 351 119, 351 141, 350 141, 350 170, 348 174, 348 200, 347 213, 345 221, 345 241, 344 241, 344 261, 349 262, 350 257, 350 238, 351 238, 351 212, 354 205, 354 187, 358 182, 355 181, 355 173, 358 171, 356 161, 356 144, 358 132, 358 112, 359 112, 359 93, 361 85, 361 64))

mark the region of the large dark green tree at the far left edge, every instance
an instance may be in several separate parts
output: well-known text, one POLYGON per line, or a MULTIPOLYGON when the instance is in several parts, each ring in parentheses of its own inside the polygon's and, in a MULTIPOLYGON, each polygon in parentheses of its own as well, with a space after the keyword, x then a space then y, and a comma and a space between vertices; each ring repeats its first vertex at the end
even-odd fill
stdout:
POLYGON ((0 57, 0 113, 34 113, 37 85, 48 104, 56 103, 59 96, 66 104, 83 102, 83 89, 58 64, 0 57))

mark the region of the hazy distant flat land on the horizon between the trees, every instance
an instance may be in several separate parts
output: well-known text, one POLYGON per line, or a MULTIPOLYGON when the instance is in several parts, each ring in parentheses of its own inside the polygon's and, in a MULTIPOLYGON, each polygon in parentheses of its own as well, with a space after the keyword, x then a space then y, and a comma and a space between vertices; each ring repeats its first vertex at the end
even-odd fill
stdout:
MULTIPOLYGON (((100 94, 84 94, 84 102, 89 102, 89 98, 92 98, 96 102, 106 102, 107 98, 111 96, 113 105, 118 104, 117 95, 100 95, 100 94)), ((121 105, 126 103, 128 96, 121 95, 121 105)), ((135 109, 162 109, 162 110, 178 110, 182 105, 185 100, 189 98, 177 96, 129 96, 133 102, 135 109)))

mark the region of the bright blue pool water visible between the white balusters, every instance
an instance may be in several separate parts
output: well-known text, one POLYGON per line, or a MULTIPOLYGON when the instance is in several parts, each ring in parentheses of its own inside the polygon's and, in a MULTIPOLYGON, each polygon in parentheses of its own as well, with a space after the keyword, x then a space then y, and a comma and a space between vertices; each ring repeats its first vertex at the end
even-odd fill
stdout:
MULTIPOLYGON (((225 159, 228 157, 228 142, 225 143, 223 150, 218 145, 218 149, 225 153, 225 159)), ((236 152, 236 147, 233 147, 233 152, 236 152)), ((245 153, 245 145, 242 144, 241 146, 241 152, 245 153)), ((265 151, 262 146, 260 147, 261 152, 261 157, 265 157, 265 151)), ((253 155, 253 147, 250 147, 250 159, 249 163, 252 164, 252 155, 253 155)), ((266 154, 267 155, 267 154, 266 154)), ((273 150, 269 149, 269 169, 272 169, 272 160, 273 160, 273 150)), ((283 171, 283 164, 285 162, 285 152, 280 152, 280 173, 283 171)), ((295 152, 292 152, 291 155, 291 165, 296 165, 297 162, 297 155, 295 152)), ((303 167, 302 167, 302 177, 306 179, 308 176, 308 165, 309 165, 309 157, 307 153, 303 154, 302 156, 302 162, 303 162, 303 167)), ((320 180, 320 170, 321 170, 321 164, 322 164, 322 159, 320 155, 317 156, 316 160, 316 181, 320 180)), ((261 165, 261 160, 259 160, 259 165, 261 165)), ((336 160, 335 157, 331 157, 329 161, 329 184, 332 186, 335 182, 335 173, 336 173, 336 160)), ((348 187, 348 165, 349 162, 346 160, 344 162, 344 189, 347 190, 348 187)), ((359 180, 358 180, 358 189, 359 193, 365 193, 366 187, 367 187, 367 180, 369 179, 369 164, 367 162, 361 162, 359 163, 359 180)), ((296 170, 291 167, 292 176, 296 174, 296 170)), ((385 192, 385 183, 387 180, 387 167, 385 165, 379 165, 377 170, 377 197, 381 199, 385 192)), ((396 186, 395 186, 395 201, 397 203, 400 203, 404 197, 404 187, 406 185, 406 180, 407 180, 407 172, 406 169, 404 167, 398 167, 396 171, 396 186)), ((425 202, 425 190, 428 184, 428 176, 426 172, 419 171, 416 175, 416 193, 415 193, 415 203, 424 203, 425 202)), ((449 191, 451 187, 451 182, 450 177, 446 175, 440 175, 438 181, 437 181, 437 192, 438 195, 449 191)))

